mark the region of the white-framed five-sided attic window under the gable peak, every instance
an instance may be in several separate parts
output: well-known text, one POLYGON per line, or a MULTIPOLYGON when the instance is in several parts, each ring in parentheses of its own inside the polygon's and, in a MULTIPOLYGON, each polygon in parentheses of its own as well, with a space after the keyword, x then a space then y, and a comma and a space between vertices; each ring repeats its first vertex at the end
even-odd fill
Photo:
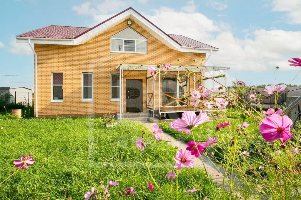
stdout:
POLYGON ((147 39, 132 28, 111 37, 111 52, 147 53, 147 39))

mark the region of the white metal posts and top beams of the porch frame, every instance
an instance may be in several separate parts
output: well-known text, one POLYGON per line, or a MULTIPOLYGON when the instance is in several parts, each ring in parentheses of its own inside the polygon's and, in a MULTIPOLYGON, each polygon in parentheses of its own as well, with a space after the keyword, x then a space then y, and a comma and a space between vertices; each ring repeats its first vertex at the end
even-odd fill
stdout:
MULTIPOLYGON (((120 63, 116 66, 116 70, 119 70, 119 82, 120 88, 119 88, 119 94, 120 94, 120 101, 119 101, 119 113, 120 113, 120 120, 122 119, 122 113, 123 113, 123 70, 148 70, 148 67, 155 67, 157 68, 157 64, 126 64, 126 63, 120 63)), ((159 115, 162 113, 168 113, 168 112, 161 112, 160 111, 160 106, 161 106, 161 77, 160 77, 160 68, 157 68, 159 71, 158 74, 158 79, 159 79, 159 89, 158 89, 158 94, 159 94, 159 115)), ((212 71, 220 71, 220 70, 229 70, 230 67, 213 67, 213 66, 183 66, 183 65, 170 65, 169 71, 174 71, 174 72, 183 72, 186 70, 191 70, 193 71, 193 79, 194 79, 194 90, 195 90, 195 73, 200 73, 200 72, 212 72, 212 71)), ((149 77, 148 77, 149 78, 149 77)), ((225 79, 226 81, 226 79, 225 79)), ((148 89, 148 88, 147 88, 148 89)), ((148 109, 150 110, 150 109, 148 109)), ((154 76, 153 76, 153 117, 155 113, 155 81, 154 81, 154 76)))

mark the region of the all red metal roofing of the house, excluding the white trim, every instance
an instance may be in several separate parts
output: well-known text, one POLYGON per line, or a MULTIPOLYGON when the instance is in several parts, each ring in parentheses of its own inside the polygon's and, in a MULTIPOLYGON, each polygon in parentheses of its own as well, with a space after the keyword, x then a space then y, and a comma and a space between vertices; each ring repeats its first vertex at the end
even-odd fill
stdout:
MULTIPOLYGON (((124 13, 127 10, 132 9, 135 11, 138 15, 140 15, 142 18, 150 22, 152 25, 154 25, 151 21, 146 19, 144 16, 142 16, 140 13, 138 13, 136 10, 134 10, 132 7, 127 8, 126 10, 121 11, 120 13, 110 17, 109 19, 99 23, 98 25, 95 25, 92 28, 85 28, 85 27, 74 27, 74 26, 57 26, 57 25, 50 25, 46 26, 44 28, 39 28, 33 31, 29 31, 20 35, 17 35, 17 37, 36 37, 36 38, 54 38, 54 39, 76 39, 77 37, 87 33, 88 31, 98 27, 99 25, 109 21, 110 19, 113 19, 114 17, 124 13)), ((156 25, 154 25, 156 28, 158 28, 156 25)), ((160 31, 162 31, 160 28, 158 28, 160 31)), ((204 48, 204 49, 218 49, 213 46, 201 43, 199 41, 193 40, 191 38, 182 36, 182 35, 175 35, 175 34, 166 34, 164 31, 162 31, 163 34, 165 34, 167 37, 174 40, 176 43, 178 43, 180 46, 187 46, 192 48, 204 48)))

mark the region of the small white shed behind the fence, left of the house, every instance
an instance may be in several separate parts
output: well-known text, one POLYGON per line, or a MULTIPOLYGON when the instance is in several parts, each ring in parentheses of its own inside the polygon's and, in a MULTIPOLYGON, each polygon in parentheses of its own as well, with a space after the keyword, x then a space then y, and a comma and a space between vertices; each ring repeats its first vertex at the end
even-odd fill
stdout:
POLYGON ((32 105, 32 89, 26 87, 10 88, 10 100, 9 103, 24 102, 26 106, 32 105))

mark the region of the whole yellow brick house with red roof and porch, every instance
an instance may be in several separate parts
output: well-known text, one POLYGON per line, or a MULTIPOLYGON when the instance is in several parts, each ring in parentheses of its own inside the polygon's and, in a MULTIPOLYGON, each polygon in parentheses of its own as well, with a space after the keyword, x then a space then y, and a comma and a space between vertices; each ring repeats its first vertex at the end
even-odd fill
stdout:
POLYGON ((195 73, 229 69, 197 65, 194 59, 219 49, 166 34, 131 7, 93 28, 51 25, 17 35, 17 42, 34 44, 39 117, 194 110, 175 101, 202 80, 173 75, 153 83, 147 67, 166 62, 174 74, 185 71, 182 64, 195 73))

